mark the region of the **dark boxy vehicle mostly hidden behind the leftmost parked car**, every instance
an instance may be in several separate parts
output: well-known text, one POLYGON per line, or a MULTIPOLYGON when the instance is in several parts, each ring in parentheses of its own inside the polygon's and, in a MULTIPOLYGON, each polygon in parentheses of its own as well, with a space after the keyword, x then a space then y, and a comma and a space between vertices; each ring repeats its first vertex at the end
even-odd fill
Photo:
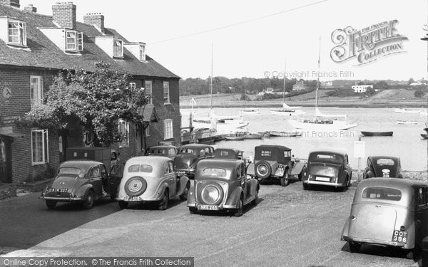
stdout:
POLYGON ((110 147, 68 147, 66 160, 88 159, 102 162, 110 172, 111 149, 110 147))

